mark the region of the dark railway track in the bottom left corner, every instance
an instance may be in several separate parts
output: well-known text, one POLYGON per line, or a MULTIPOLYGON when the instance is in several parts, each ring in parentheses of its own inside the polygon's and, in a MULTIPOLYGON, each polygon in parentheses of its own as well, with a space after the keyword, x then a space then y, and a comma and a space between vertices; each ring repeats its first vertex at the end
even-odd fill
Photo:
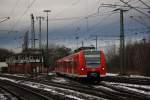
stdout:
POLYGON ((10 81, 1 80, 0 87, 13 94, 18 100, 52 100, 34 89, 10 81))

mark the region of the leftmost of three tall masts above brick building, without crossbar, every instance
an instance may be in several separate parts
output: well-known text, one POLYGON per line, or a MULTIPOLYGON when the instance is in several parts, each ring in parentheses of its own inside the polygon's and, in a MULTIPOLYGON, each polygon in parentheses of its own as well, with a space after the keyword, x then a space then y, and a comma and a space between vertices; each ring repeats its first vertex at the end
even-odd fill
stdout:
POLYGON ((31 14, 31 48, 35 48, 34 16, 31 14))

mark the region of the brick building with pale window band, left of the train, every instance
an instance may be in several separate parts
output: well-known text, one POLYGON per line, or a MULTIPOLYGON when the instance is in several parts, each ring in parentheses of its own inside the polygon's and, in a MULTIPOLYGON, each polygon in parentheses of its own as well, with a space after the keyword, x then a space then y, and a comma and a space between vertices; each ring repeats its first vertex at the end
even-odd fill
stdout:
POLYGON ((13 54, 7 58, 9 73, 45 73, 42 52, 39 49, 28 49, 21 53, 13 54))

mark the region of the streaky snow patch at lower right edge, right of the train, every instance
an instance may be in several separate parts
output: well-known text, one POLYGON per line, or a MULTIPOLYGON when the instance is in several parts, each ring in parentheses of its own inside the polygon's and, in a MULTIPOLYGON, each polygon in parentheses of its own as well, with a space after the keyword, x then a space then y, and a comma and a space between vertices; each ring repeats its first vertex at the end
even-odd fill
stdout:
POLYGON ((117 88, 122 88, 123 90, 126 89, 126 90, 133 91, 133 92, 139 92, 144 95, 150 95, 150 91, 143 91, 143 90, 134 88, 134 87, 142 87, 142 88, 150 89, 150 86, 148 86, 148 85, 125 84, 125 83, 116 83, 116 82, 105 82, 105 83, 108 85, 113 85, 117 88), (131 88, 131 86, 133 88, 131 88))

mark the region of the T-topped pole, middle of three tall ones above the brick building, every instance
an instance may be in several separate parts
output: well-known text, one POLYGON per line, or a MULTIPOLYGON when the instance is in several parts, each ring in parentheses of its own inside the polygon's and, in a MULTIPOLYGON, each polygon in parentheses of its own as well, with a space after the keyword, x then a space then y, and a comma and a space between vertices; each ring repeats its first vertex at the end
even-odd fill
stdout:
POLYGON ((37 16, 37 20, 39 20, 39 49, 42 48, 42 35, 41 35, 41 21, 44 20, 44 17, 37 16))

